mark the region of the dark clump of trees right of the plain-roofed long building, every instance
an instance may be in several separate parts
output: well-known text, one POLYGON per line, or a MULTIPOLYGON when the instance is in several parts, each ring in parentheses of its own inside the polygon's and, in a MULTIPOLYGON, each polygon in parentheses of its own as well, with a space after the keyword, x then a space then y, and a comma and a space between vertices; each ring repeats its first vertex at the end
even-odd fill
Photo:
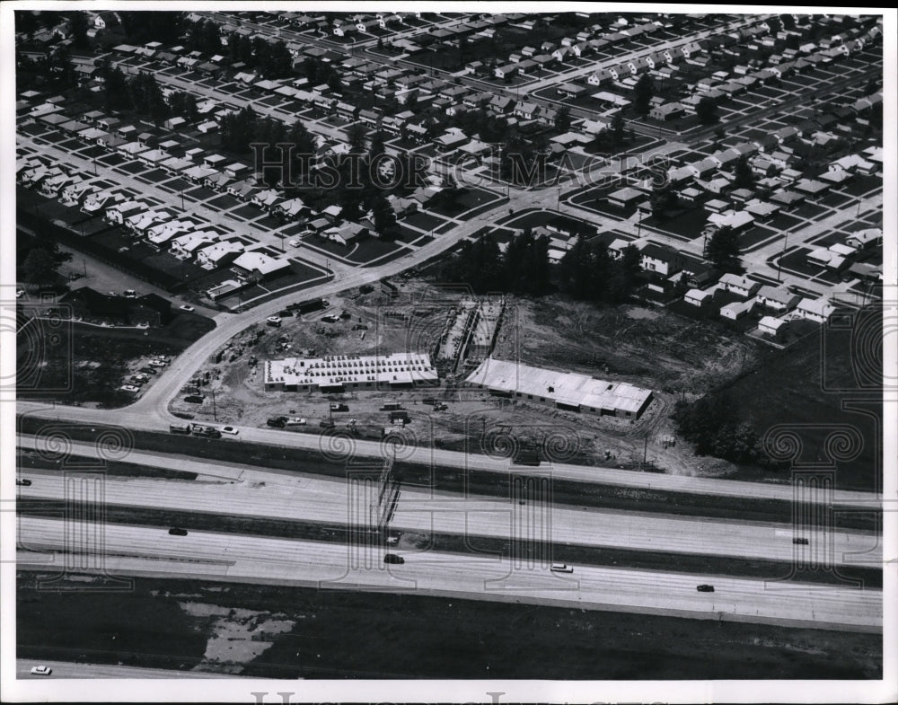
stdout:
POLYGON ((695 444, 695 452, 732 463, 774 463, 763 452, 757 432, 737 418, 726 394, 707 394, 696 401, 677 401, 671 415, 677 432, 695 444))

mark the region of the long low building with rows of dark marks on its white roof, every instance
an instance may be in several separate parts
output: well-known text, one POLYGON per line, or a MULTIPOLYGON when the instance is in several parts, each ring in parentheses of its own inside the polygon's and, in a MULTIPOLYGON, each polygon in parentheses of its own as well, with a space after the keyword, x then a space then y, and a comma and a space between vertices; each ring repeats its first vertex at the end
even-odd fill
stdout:
POLYGON ((286 357, 265 363, 265 389, 284 392, 342 392, 436 386, 439 376, 427 353, 286 357))

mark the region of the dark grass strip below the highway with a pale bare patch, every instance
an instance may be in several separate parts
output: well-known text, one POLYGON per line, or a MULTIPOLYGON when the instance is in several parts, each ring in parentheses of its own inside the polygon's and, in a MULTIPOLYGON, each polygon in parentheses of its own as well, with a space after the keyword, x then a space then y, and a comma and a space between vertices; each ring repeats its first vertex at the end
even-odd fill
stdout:
POLYGON ((20 658, 274 678, 882 677, 872 634, 150 578, 50 592, 39 576, 18 576, 20 658))

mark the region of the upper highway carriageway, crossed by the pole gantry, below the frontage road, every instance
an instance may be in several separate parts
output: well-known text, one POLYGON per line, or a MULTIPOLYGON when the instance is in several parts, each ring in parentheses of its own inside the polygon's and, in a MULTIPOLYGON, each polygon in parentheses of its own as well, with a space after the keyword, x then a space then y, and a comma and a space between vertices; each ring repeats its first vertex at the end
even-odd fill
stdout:
MULTIPOLYGON (((23 437, 20 447, 33 447, 23 437)), ((72 452, 100 458, 92 444, 73 443, 72 452)), ((253 468, 237 463, 222 465, 180 456, 132 451, 125 460, 148 467, 197 472, 197 480, 153 480, 109 476, 103 482, 106 504, 153 507, 212 514, 304 520, 345 524, 350 512, 346 480, 253 468)), ((19 487, 20 498, 66 498, 65 478, 56 471, 23 471, 32 480, 19 487)), ((73 491, 71 486, 67 491, 73 491)), ((86 498, 85 498, 86 499, 86 498)), ((359 497, 368 506, 370 498, 359 497)), ((358 521, 376 525, 374 517, 358 521)), ((882 550, 872 533, 823 529, 796 532, 789 524, 735 522, 707 517, 663 513, 614 511, 566 505, 518 505, 507 498, 431 493, 403 486, 391 528, 416 533, 452 533, 491 536, 557 544, 604 546, 641 551, 699 553, 712 556, 751 557, 762 560, 827 560, 834 564, 880 568, 882 550), (792 543, 795 535, 809 538, 807 546, 792 543)))

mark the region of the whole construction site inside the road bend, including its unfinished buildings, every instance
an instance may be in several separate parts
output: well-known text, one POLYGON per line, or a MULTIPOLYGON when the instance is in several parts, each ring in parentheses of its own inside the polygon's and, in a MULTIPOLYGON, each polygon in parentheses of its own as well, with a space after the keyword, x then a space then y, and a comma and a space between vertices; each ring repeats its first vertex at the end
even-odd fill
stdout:
POLYGON ((198 422, 311 434, 342 429, 358 438, 390 436, 399 446, 478 454, 537 447, 550 448, 543 460, 558 462, 731 471, 676 444, 669 415, 683 379, 696 393, 732 378, 753 359, 751 343, 734 347, 669 313, 629 308, 453 295, 417 280, 401 290, 356 290, 282 311, 277 325, 244 330, 171 409, 198 422), (633 346, 643 340, 655 345, 637 357, 633 346), (480 387, 479 370, 511 364, 515 379, 533 370, 545 392, 558 393, 480 387))

